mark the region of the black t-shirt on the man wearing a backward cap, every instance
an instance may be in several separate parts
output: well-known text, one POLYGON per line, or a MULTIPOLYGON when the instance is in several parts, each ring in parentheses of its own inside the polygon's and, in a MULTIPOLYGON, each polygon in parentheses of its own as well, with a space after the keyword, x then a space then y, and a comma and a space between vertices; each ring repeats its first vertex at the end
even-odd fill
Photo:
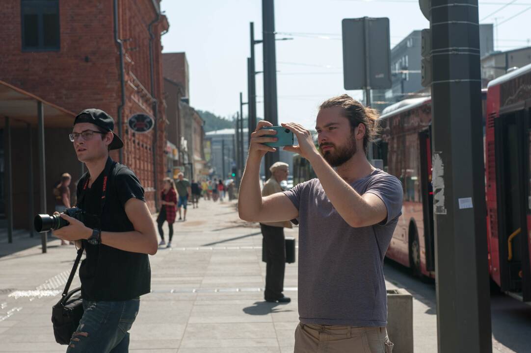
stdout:
MULTIPOLYGON (((108 159, 107 163, 114 163, 108 159)), ((101 196, 105 171, 94 180, 92 186, 84 191, 83 186, 88 173, 78 183, 78 207, 90 214, 101 212, 101 196)), ((144 189, 133 171, 124 165, 115 163, 110 168, 107 179, 106 201, 101 215, 101 231, 124 232, 134 230, 133 223, 125 213, 125 203, 136 197, 145 201, 144 189)), ((85 224, 90 228, 99 225, 85 224)), ((123 251, 104 244, 90 245, 83 240, 87 258, 79 269, 81 294, 83 299, 91 301, 129 300, 150 292, 151 268, 148 254, 123 251)))

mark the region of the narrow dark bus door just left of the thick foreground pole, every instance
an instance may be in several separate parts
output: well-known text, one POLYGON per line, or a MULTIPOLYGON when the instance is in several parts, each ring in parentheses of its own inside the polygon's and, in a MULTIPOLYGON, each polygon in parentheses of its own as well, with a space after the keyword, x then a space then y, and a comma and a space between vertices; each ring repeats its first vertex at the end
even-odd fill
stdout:
POLYGON ((431 126, 418 134, 421 157, 421 192, 424 219, 424 251, 426 270, 435 271, 435 242, 433 232, 433 188, 432 188, 432 154, 431 126))

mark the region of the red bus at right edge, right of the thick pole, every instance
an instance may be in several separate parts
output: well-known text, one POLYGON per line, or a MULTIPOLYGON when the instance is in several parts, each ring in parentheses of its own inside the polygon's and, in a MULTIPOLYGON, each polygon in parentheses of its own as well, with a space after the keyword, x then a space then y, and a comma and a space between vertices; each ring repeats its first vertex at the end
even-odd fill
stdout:
POLYGON ((485 137, 489 271, 531 301, 531 64, 489 83, 485 137))

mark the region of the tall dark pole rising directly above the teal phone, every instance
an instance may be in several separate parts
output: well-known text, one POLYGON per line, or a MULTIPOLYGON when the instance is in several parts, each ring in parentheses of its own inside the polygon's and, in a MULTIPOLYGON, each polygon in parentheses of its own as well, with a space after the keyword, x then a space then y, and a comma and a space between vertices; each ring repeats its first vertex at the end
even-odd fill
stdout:
MULTIPOLYGON (((275 11, 273 0, 262 0, 262 42, 264 67, 264 119, 278 125, 277 107, 277 59, 275 52, 275 11)), ((280 158, 279 150, 265 154, 265 179, 269 167, 280 158)))

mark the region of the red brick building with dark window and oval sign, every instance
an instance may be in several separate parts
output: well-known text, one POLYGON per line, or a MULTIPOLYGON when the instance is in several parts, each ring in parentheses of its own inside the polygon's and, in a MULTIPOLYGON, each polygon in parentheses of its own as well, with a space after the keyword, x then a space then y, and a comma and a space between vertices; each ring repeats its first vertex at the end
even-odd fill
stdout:
POLYGON ((0 80, 74 113, 99 108, 120 122, 115 132, 125 146, 112 157, 138 175, 151 211, 165 174, 160 38, 169 25, 159 5, 3 0, 0 11, 0 80), (136 113, 154 118, 155 127, 132 132, 127 119, 136 113))

